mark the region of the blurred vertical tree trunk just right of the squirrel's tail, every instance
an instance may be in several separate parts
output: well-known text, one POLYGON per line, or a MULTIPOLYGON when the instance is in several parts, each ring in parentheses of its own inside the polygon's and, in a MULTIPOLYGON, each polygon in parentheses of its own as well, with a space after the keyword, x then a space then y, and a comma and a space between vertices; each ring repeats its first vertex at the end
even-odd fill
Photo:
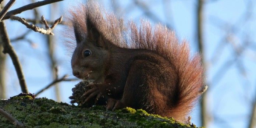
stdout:
MULTIPOLYGON (((204 0, 198 0, 198 6, 197 6, 197 38, 198 38, 198 49, 199 52, 202 55, 202 64, 203 64, 203 68, 206 71, 206 66, 205 66, 205 59, 204 59, 204 49, 203 49, 203 6, 204 6, 204 0)), ((203 82, 204 85, 206 84, 206 82, 203 82)), ((207 104, 207 91, 205 93, 203 93, 202 95, 202 99, 201 99, 201 103, 200 103, 200 107, 201 107, 201 126, 202 127, 206 127, 207 128, 207 119, 208 119, 208 115, 207 115, 207 111, 206 111, 206 104, 207 104)))

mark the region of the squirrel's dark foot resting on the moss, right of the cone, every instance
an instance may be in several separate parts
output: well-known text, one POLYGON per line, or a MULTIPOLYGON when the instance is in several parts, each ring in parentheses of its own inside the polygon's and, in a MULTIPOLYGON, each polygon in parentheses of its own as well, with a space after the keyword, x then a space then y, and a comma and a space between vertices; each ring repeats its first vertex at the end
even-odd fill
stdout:
POLYGON ((115 100, 115 99, 112 99, 112 98, 109 98, 107 100, 107 106, 106 106, 107 110, 114 111, 116 109, 122 109, 124 107, 127 107, 127 106, 125 106, 125 104, 122 103, 121 100, 115 100))

